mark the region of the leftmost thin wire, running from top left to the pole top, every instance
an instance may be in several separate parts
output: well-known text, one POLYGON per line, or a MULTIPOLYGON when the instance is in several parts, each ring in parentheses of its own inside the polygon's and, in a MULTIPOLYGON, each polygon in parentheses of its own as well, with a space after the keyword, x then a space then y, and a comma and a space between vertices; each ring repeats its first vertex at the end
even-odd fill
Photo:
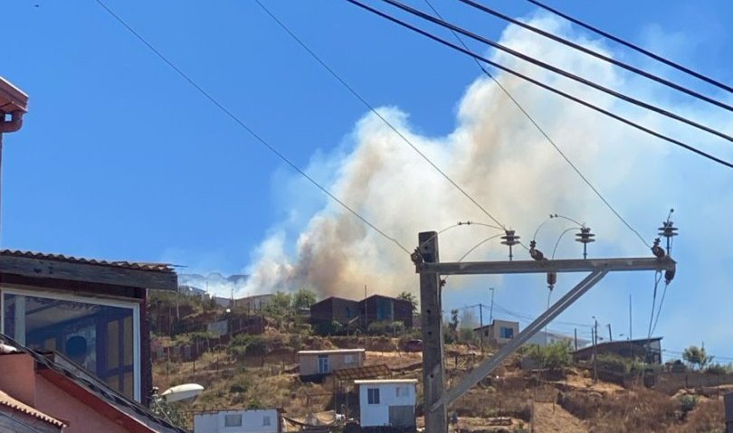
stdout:
POLYGON ((228 108, 224 107, 224 105, 221 102, 219 102, 217 99, 215 99, 204 88, 202 88, 201 86, 199 86, 195 82, 195 80, 193 80, 191 77, 189 77, 186 74, 186 72, 184 72, 180 68, 178 68, 173 61, 168 60, 168 58, 162 52, 159 52, 157 50, 157 48, 155 46, 153 46, 153 44, 151 44, 150 42, 148 42, 140 33, 136 32, 135 29, 133 29, 129 24, 127 24, 118 14, 115 14, 115 12, 112 11, 101 0, 97 0, 97 4, 100 5, 105 11, 107 11, 107 13, 110 14, 115 20, 117 20, 117 22, 119 24, 121 24, 123 27, 125 27, 129 31, 129 33, 132 33, 136 38, 138 38, 138 40, 140 42, 142 42, 143 44, 145 44, 145 46, 147 46, 148 49, 151 52, 155 53, 160 60, 164 61, 173 71, 176 71, 176 73, 178 75, 180 75, 191 86, 193 86, 196 90, 198 90, 199 93, 201 93, 206 99, 209 99, 209 101, 211 101, 214 104, 214 106, 216 106, 217 108, 219 108, 220 110, 222 110, 226 116, 228 116, 229 118, 231 118, 240 127, 243 127, 243 129, 245 131, 247 131, 255 140, 257 140, 258 142, 260 142, 262 144, 262 146, 267 147, 271 151, 271 153, 273 153, 274 155, 278 156, 283 162, 285 162, 287 165, 290 165, 290 167, 292 167, 293 170, 295 170, 300 175, 302 175, 303 177, 305 177, 306 179, 308 179, 308 181, 311 184, 315 185, 321 192, 323 192, 326 195, 328 195, 328 197, 330 197, 331 200, 333 200, 334 202, 338 202, 338 204, 340 204, 344 209, 346 209, 348 212, 350 212, 351 214, 353 214, 354 216, 356 216, 359 220, 361 220, 362 222, 364 222, 365 224, 367 224, 367 226, 369 226, 370 228, 372 228, 374 231, 376 231, 377 233, 379 233, 380 235, 382 235, 386 240, 391 240, 392 242, 395 243, 395 245, 397 247, 399 247, 400 249, 402 249, 403 251, 405 251, 405 253, 410 254, 410 251, 408 249, 406 249, 398 240, 396 240, 395 238, 387 235, 384 231, 381 231, 379 228, 377 228, 376 225, 374 225, 373 223, 367 221, 367 219, 365 217, 361 216, 357 211, 355 211, 354 209, 352 209, 351 207, 349 207, 345 202, 342 202, 341 200, 339 200, 333 193, 329 192, 328 189, 326 189, 326 187, 324 187, 323 185, 319 184, 315 179, 313 179, 311 176, 309 176, 309 174, 307 174, 305 171, 301 170, 298 165, 295 165, 292 161, 290 161, 290 159, 287 156, 283 155, 277 148, 275 148, 274 146, 271 146, 271 144, 268 143, 267 141, 265 141, 265 139, 262 138, 262 136, 260 136, 256 132, 254 132, 254 130, 251 127, 248 127, 243 122, 242 119, 240 119, 237 116, 235 116, 232 111, 230 111, 228 108))

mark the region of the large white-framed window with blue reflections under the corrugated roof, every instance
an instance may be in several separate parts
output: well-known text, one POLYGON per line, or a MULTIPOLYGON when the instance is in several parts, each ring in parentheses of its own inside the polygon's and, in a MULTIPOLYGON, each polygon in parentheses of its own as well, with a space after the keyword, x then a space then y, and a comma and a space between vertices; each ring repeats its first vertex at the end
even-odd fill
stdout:
POLYGON ((123 301, 3 287, 2 329, 32 349, 62 353, 139 400, 139 310, 123 301))

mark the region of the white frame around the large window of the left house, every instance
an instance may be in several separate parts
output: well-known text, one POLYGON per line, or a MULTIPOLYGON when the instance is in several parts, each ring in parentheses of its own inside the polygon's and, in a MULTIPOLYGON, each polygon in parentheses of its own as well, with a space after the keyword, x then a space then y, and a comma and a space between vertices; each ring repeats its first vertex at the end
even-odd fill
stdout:
MULTIPOLYGON (((0 285, 0 333, 5 334, 5 295, 16 297, 40 297, 57 301, 78 302, 87 305, 112 306, 116 308, 128 308, 132 310, 132 380, 133 397, 136 401, 142 401, 141 376, 140 376, 140 305, 137 302, 117 300, 109 297, 80 297, 69 295, 43 287, 28 287, 20 285, 0 285)), ((25 344, 25 335, 18 339, 18 343, 25 344)), ((96 375, 95 375, 96 377, 96 375)), ((101 381, 101 378, 100 378, 101 381)))

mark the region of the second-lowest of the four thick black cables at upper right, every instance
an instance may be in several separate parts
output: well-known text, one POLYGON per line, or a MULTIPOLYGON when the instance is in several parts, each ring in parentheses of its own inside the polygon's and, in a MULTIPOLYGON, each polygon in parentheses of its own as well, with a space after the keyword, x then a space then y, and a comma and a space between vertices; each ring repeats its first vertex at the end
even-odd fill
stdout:
POLYGON ((609 89, 609 88, 607 88, 605 86, 602 86, 602 85, 596 83, 595 81, 586 80, 583 77, 580 77, 580 76, 578 76, 578 75, 576 75, 576 74, 574 74, 572 72, 565 71, 562 68, 557 68, 556 66, 553 66, 553 65, 551 65, 551 64, 549 64, 549 63, 547 63, 545 61, 539 61, 538 59, 536 59, 536 58, 534 58, 532 56, 529 56, 529 55, 524 54, 522 52, 518 52, 516 50, 512 50, 511 48, 509 48, 509 47, 507 47, 505 45, 502 45, 499 42, 494 42, 494 41, 491 41, 490 39, 485 38, 485 37, 483 37, 483 36, 481 36, 479 34, 469 32, 468 30, 465 30, 465 29, 463 29, 462 27, 460 27, 458 25, 447 23, 447 22, 445 22, 445 21, 443 21, 441 19, 438 19, 438 18, 435 18, 434 16, 431 16, 430 14, 425 14, 424 12, 422 12, 422 11, 420 11, 418 9, 415 9, 414 7, 410 7, 408 5, 404 5, 404 4, 402 4, 400 2, 397 2, 395 0, 382 0, 382 1, 385 2, 385 3, 387 3, 387 4, 389 4, 389 5, 394 5, 395 7, 400 8, 400 9, 404 10, 405 12, 407 12, 409 14, 414 14, 415 16, 418 16, 420 18, 423 18, 424 20, 427 20, 427 21, 429 21, 429 22, 431 22, 433 24, 438 24, 438 25, 440 25, 442 27, 445 27, 445 28, 454 30, 454 31, 456 31, 458 33, 462 33, 462 34, 470 37, 471 39, 473 39, 475 41, 479 41, 479 42, 485 43, 487 45, 490 45, 491 47, 496 48, 497 50, 500 50, 502 52, 507 52, 510 55, 514 56, 514 57, 517 57, 517 58, 519 58, 519 59, 521 59, 523 61, 528 61, 529 63, 532 63, 532 64, 534 64, 534 65, 536 65, 536 66, 538 66, 540 68, 546 69, 547 71, 555 72, 558 75, 561 75, 563 77, 566 77, 567 79, 574 80, 574 81, 579 82, 581 84, 585 84, 585 86, 588 86, 588 87, 590 87, 592 89, 596 89, 596 90, 602 91, 602 92, 604 92, 604 93, 606 93, 608 95, 611 95, 611 96, 613 96, 613 97, 615 97, 617 99, 624 100, 625 102, 628 102, 630 104, 633 104, 633 105, 635 105, 637 107, 646 108, 646 109, 648 109, 650 111, 653 111, 653 112, 655 112, 657 114, 660 114, 660 115, 662 115, 662 116, 664 116, 666 118, 671 118, 671 119, 677 120, 678 122, 681 122, 681 123, 690 125, 690 127, 696 127, 698 129, 700 129, 701 131, 705 131, 705 132, 707 132, 709 134, 712 134, 714 136, 719 136, 720 138, 723 138, 723 139, 726 139, 728 141, 733 142, 733 136, 728 136, 728 134, 725 134, 723 132, 720 132, 717 129, 714 129, 712 127, 708 127, 708 126, 702 125, 702 124, 700 124, 700 123, 698 123, 698 122, 696 122, 694 120, 690 120, 690 118, 685 118, 685 117, 680 116, 678 114, 675 114, 675 113, 673 113, 673 112, 671 112, 671 111, 669 111, 667 109, 659 108, 659 107, 657 107, 657 106, 655 106, 653 104, 644 102, 641 99, 636 99, 636 98, 633 98, 633 97, 631 97, 629 95, 626 95, 626 94, 624 94, 622 92, 616 91, 614 89, 609 89))

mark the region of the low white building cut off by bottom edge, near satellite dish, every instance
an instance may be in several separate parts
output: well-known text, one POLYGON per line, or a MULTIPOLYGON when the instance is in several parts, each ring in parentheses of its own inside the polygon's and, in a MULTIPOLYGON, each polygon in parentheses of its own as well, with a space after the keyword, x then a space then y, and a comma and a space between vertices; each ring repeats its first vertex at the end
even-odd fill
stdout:
POLYGON ((195 433, 281 433, 280 409, 240 409, 194 415, 195 433))

